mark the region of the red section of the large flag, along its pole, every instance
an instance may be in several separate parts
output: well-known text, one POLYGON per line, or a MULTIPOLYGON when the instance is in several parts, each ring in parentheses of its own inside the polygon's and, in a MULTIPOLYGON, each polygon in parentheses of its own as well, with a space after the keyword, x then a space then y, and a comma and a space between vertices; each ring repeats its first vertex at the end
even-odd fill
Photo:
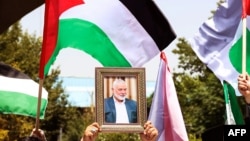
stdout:
POLYGON ((44 77, 45 64, 50 59, 57 41, 59 16, 67 9, 83 4, 83 0, 46 0, 42 54, 39 77, 44 77))

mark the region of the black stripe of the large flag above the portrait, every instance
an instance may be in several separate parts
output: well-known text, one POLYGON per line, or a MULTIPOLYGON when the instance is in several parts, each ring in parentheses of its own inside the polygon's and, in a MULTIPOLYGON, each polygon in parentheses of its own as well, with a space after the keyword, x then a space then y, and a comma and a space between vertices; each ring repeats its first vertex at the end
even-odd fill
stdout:
POLYGON ((166 48, 175 38, 170 23, 152 0, 120 0, 150 34, 159 50, 166 48))

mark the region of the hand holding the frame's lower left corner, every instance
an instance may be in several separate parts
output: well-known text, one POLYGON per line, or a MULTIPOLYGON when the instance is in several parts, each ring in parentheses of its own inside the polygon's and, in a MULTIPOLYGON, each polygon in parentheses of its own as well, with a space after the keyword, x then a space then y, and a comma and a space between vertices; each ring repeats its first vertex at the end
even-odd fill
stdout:
POLYGON ((94 141, 100 131, 99 124, 97 122, 92 123, 85 129, 81 141, 94 141))

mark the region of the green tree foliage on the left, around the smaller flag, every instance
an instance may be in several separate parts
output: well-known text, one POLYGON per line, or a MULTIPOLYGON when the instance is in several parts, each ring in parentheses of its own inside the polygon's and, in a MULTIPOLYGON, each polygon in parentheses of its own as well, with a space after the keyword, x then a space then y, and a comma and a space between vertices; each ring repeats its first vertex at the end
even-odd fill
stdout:
MULTIPOLYGON (((0 35, 0 60, 24 72, 36 82, 39 81, 40 51, 41 39, 23 33, 19 23, 0 35)), ((68 141, 79 141, 84 126, 83 117, 67 101, 68 95, 62 88, 62 81, 58 79, 59 73, 58 69, 53 70, 44 79, 43 87, 49 92, 49 97, 45 119, 40 120, 39 125, 45 131, 48 141, 56 141, 59 135, 68 141)), ((0 121, 0 140, 4 141, 16 141, 28 136, 35 125, 34 118, 18 115, 0 115, 0 121)))

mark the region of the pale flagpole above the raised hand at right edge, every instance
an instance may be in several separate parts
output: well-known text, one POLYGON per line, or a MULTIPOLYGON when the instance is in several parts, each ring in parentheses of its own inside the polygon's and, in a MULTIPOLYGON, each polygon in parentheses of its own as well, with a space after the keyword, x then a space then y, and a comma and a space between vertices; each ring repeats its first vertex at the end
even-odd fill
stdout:
POLYGON ((246 74, 246 18, 242 19, 242 73, 246 74))

